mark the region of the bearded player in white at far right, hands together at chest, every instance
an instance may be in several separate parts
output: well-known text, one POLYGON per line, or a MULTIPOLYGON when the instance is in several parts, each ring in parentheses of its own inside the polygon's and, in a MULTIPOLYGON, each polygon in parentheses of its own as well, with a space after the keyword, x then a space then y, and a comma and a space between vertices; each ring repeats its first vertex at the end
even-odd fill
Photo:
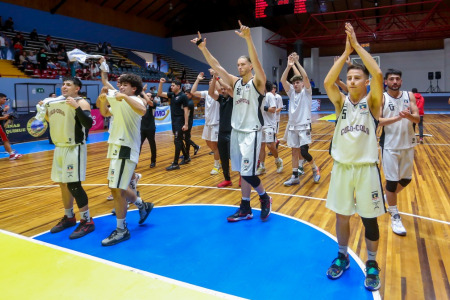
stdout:
POLYGON ((387 91, 383 94, 379 125, 383 126, 380 146, 386 178, 386 200, 391 214, 392 231, 398 235, 406 235, 406 229, 398 213, 397 195, 411 182, 414 146, 417 144, 413 123, 420 121, 419 109, 414 94, 400 90, 401 71, 388 69, 384 82, 387 91))

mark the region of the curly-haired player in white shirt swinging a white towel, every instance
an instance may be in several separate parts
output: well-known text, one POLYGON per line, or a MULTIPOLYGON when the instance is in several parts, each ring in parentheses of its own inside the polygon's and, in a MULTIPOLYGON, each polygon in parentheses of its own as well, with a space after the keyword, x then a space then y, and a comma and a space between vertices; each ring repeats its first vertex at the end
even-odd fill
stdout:
POLYGON ((144 101, 137 97, 141 92, 142 80, 139 76, 122 74, 119 77, 119 92, 111 90, 109 96, 102 93, 97 100, 104 117, 114 116, 107 158, 110 159, 108 180, 115 202, 117 228, 102 241, 102 246, 112 246, 130 238, 126 223, 127 200, 138 207, 139 224, 145 222, 153 209, 153 203, 142 201, 129 186, 139 161, 141 118, 147 111, 144 101))

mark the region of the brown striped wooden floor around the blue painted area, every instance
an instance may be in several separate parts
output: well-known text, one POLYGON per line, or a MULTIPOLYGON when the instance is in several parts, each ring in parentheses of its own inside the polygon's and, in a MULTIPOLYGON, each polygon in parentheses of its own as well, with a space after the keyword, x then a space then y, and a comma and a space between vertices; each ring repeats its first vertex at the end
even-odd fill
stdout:
MULTIPOLYGON (((287 116, 282 115, 281 132, 286 121, 287 116)), ((426 137, 425 143, 416 147, 413 180, 399 196, 399 209, 406 213, 402 218, 407 236, 392 233, 388 214, 379 218, 381 237, 377 260, 382 270, 380 292, 385 299, 450 299, 450 115, 426 115, 424 126, 425 133, 433 136, 426 137)), ((147 184, 139 187, 144 200, 155 205, 239 204, 237 173, 232 174, 233 189, 214 188, 223 177, 209 174, 213 156, 208 154, 209 149, 201 139, 202 129, 197 127, 192 132, 194 141, 201 145, 199 154, 181 170, 165 170, 173 155, 171 134, 156 135, 158 160, 154 169, 149 168, 149 147, 144 144, 137 167, 137 172, 143 175, 140 184, 147 184)), ((290 149, 283 146, 280 146, 280 156, 285 170, 277 174, 273 158, 268 157, 267 174, 261 179, 274 198, 274 211, 305 220, 335 235, 334 213, 325 208, 324 201, 332 167, 328 147, 333 130, 334 123, 313 123, 314 141, 310 149, 321 169, 320 184, 314 184, 311 169, 306 165, 306 174, 301 177, 299 186, 283 186, 291 175, 290 149)), ((106 151, 106 143, 88 146, 84 186, 93 216, 107 214, 113 206, 111 201, 106 201, 109 195, 106 151)), ((25 155, 20 161, 0 160, 3 172, 0 179, 1 229, 33 236, 49 230, 61 218, 59 189, 50 180, 52 155, 50 151, 25 155)), ((257 206, 257 196, 252 194, 252 197, 252 205, 257 206)), ((356 216, 351 220, 349 246, 363 261, 367 259, 364 229, 356 216)), ((330 262, 332 259, 330 257, 330 262)))

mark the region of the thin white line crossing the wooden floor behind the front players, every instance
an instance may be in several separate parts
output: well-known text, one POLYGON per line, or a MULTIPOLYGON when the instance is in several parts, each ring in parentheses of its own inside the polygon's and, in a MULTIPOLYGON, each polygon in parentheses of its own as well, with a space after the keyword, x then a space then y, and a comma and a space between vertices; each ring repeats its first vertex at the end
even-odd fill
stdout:
MULTIPOLYGON (((107 186, 107 183, 84 183, 83 186, 107 186)), ((241 191, 241 189, 233 189, 233 188, 218 188, 216 186, 202 186, 202 185, 184 185, 184 184, 165 184, 165 183, 139 183, 138 185, 141 186, 160 186, 160 187, 180 187, 180 188, 199 188, 199 189, 215 189, 215 190, 227 190, 227 191, 241 191)), ((59 187, 59 185, 40 185, 40 186, 20 186, 20 187, 7 187, 7 188, 0 188, 0 191, 3 190, 14 190, 14 189, 34 189, 34 188, 53 188, 53 187, 59 187)), ((256 193, 256 191, 252 190, 252 193, 256 193)), ((293 197, 293 198, 306 198, 311 200, 319 200, 319 201, 326 201, 327 199, 324 198, 316 198, 316 197, 309 197, 309 196, 303 196, 303 195, 295 195, 295 194, 286 194, 286 193, 277 193, 277 192, 268 192, 271 195, 279 195, 279 196, 287 196, 287 197, 293 197)), ((207 205, 207 204, 205 204, 207 205)), ((445 225, 450 225, 450 222, 438 220, 434 218, 424 217, 420 215, 414 215, 409 214, 405 212, 399 212, 402 215, 410 216, 414 218, 429 220, 433 222, 442 223, 445 225)))

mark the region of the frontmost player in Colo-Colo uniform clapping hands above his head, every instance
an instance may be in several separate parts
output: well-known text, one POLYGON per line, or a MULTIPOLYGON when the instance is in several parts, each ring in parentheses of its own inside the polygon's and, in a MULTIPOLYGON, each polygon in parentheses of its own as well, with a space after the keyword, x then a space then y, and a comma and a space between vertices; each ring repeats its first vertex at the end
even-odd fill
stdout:
POLYGON ((371 291, 381 286, 376 254, 379 228, 377 217, 386 212, 380 173, 377 167, 378 148, 376 121, 383 99, 383 74, 375 60, 361 47, 350 23, 345 51, 334 63, 325 78, 324 87, 336 109, 336 128, 331 156, 334 159, 326 206, 336 213, 336 235, 339 245, 337 258, 327 271, 330 279, 339 278, 350 267, 347 254, 350 236, 350 217, 358 213, 365 227, 368 252, 364 286, 371 291), (365 66, 352 65, 347 69, 347 96, 335 82, 345 60, 356 51, 365 66), (366 69, 367 67, 367 69, 366 69), (366 86, 371 90, 367 94, 366 86))

